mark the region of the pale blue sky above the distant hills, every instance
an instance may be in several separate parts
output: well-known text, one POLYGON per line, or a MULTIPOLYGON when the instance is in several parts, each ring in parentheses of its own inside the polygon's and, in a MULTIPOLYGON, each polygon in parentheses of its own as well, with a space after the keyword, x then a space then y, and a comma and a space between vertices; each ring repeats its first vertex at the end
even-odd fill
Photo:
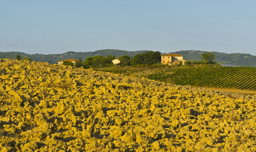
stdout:
POLYGON ((255 0, 0 0, 0 51, 256 55, 255 8, 255 0))

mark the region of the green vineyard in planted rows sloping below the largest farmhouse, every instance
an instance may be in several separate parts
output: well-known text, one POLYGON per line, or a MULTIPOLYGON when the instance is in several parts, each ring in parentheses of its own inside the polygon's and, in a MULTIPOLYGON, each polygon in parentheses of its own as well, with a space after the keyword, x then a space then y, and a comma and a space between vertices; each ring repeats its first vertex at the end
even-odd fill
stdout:
POLYGON ((176 85, 256 90, 256 68, 253 67, 183 67, 152 70, 113 68, 105 72, 134 75, 176 85))

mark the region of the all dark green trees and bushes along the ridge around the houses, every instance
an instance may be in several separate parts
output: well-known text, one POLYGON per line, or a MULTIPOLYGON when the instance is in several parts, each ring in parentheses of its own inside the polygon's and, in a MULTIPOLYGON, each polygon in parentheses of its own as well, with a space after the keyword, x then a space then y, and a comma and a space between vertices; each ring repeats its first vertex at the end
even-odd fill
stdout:
MULTIPOLYGON (((21 60, 20 56, 16 56, 17 60, 21 60)), ((110 67, 115 66, 113 64, 113 60, 118 59, 120 63, 118 66, 150 66, 150 67, 157 67, 162 65, 161 63, 161 53, 159 51, 147 51, 146 53, 136 54, 135 56, 128 56, 123 55, 120 57, 108 56, 104 57, 101 55, 92 56, 86 58, 85 61, 82 61, 81 58, 76 61, 75 65, 71 61, 64 61, 63 65, 67 66, 75 66, 76 68, 83 67, 83 68, 103 68, 103 67, 110 67)), ((201 56, 201 60, 203 61, 192 61, 188 60, 185 61, 185 65, 202 65, 204 64, 216 64, 213 60, 215 59, 214 54, 212 53, 203 53, 201 56)), ((23 60, 31 61, 30 58, 24 57, 23 60)), ((179 66, 182 65, 180 62, 179 66)))

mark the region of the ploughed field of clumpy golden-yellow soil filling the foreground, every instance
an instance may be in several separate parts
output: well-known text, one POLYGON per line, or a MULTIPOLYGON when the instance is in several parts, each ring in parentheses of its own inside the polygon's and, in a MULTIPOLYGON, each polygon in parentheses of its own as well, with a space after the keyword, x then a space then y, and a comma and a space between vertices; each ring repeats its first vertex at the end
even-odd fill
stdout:
POLYGON ((0 151, 256 151, 256 96, 0 65, 0 151))

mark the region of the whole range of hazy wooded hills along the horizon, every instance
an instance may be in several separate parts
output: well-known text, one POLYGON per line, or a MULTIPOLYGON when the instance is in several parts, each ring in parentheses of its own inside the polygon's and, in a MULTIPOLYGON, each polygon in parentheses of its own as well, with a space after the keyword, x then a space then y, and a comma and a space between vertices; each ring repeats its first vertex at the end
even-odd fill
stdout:
MULTIPOLYGON (((57 61, 65 60, 65 59, 76 59, 78 60, 81 58, 83 61, 85 58, 90 56, 135 56, 136 54, 145 53, 146 51, 124 51, 120 49, 102 49, 93 52, 67 52, 62 54, 26 54, 20 52, 0 52, 0 58, 10 58, 15 59, 15 57, 20 55, 21 58, 27 56, 31 58, 32 61, 44 61, 48 63, 57 63, 57 61)), ((206 51, 194 51, 194 50, 187 50, 187 51, 176 51, 173 52, 176 54, 182 54, 184 60, 195 60, 201 61, 201 54, 207 53, 206 51)), ((225 64, 225 65, 236 65, 236 66, 251 66, 256 67, 256 56, 252 56, 251 54, 245 53, 218 53, 218 52, 211 52, 215 54, 215 60, 217 63, 225 64)))

